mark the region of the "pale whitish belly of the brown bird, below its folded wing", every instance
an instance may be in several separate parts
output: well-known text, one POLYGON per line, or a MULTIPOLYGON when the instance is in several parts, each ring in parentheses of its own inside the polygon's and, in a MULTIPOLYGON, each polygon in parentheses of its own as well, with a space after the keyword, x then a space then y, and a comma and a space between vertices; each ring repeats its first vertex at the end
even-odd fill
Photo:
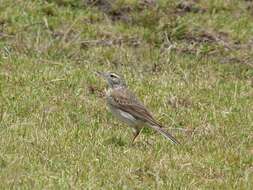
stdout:
POLYGON ((139 124, 139 121, 134 117, 132 116, 131 114, 125 112, 125 111, 122 111, 120 109, 117 109, 117 108, 113 108, 111 106, 110 107, 110 110, 112 112, 112 114, 117 117, 119 120, 127 123, 128 125, 131 125, 131 126, 136 126, 139 124))

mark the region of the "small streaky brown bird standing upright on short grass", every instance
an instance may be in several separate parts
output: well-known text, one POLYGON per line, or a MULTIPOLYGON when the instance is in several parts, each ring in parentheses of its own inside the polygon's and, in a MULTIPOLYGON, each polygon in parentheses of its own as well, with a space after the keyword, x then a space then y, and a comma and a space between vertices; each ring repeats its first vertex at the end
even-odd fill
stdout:
POLYGON ((147 124, 150 128, 162 134, 166 139, 175 144, 180 144, 171 134, 166 132, 145 106, 127 89, 124 80, 111 72, 97 72, 108 83, 106 92, 107 104, 114 116, 127 123, 133 130, 132 142, 140 134, 141 129, 147 124))

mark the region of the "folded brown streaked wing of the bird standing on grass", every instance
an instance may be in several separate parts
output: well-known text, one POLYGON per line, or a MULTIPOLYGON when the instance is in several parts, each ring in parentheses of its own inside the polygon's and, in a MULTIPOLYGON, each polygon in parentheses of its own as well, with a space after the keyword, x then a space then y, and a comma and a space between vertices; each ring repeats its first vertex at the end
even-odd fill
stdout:
POLYGON ((114 106, 119 109, 132 114, 144 122, 161 127, 147 108, 129 90, 115 89, 111 92, 111 98, 113 99, 114 106))

